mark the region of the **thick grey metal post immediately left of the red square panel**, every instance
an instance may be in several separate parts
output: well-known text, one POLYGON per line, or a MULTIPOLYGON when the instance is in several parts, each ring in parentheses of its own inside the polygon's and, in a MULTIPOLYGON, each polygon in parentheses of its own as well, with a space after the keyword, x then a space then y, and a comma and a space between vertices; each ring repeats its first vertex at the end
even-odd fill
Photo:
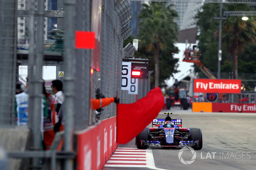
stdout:
MULTIPOLYGON (((65 115, 65 131, 64 131, 64 151, 73 150, 73 130, 74 130, 74 54, 75 52, 75 0, 64 0, 64 28, 65 28, 65 40, 64 40, 64 65, 65 65, 65 77, 64 77, 64 115, 65 115)), ((73 169, 72 159, 65 159, 65 170, 73 169)))

